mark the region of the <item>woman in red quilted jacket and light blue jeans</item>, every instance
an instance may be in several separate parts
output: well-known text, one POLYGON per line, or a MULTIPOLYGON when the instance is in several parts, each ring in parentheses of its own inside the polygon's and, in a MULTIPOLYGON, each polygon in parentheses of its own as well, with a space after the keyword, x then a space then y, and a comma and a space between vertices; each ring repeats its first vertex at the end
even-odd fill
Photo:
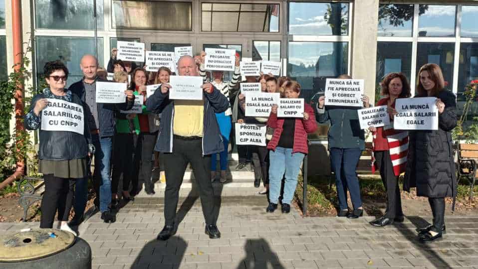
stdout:
MULTIPOLYGON (((287 81, 284 85, 285 98, 298 98, 300 84, 287 81)), ((280 183, 285 173, 282 213, 290 212, 290 202, 297 186, 300 164, 308 153, 307 134, 315 132, 317 123, 312 107, 305 104, 302 118, 277 118, 277 105, 272 106, 267 126, 274 128, 272 139, 267 144, 269 151, 269 206, 274 212, 280 195, 280 183)))

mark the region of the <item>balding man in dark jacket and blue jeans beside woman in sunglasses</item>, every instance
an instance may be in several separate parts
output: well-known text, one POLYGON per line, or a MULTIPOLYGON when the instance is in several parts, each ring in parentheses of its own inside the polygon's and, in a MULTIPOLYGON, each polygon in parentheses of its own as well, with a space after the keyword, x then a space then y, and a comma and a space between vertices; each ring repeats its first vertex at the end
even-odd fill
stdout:
MULTIPOLYGON (((80 61, 83 79, 72 84, 70 91, 86 103, 88 127, 95 146, 95 171, 93 182, 96 192, 95 205, 101 211, 101 219, 106 223, 116 221, 108 205, 111 203, 110 158, 115 134, 115 109, 129 110, 134 105, 133 91, 126 90, 126 100, 121 104, 96 103, 96 82, 107 82, 97 76, 98 61, 93 55, 84 55, 80 61)), ((75 187, 75 217, 72 225, 78 225, 83 219, 86 206, 87 182, 77 181, 75 187)))

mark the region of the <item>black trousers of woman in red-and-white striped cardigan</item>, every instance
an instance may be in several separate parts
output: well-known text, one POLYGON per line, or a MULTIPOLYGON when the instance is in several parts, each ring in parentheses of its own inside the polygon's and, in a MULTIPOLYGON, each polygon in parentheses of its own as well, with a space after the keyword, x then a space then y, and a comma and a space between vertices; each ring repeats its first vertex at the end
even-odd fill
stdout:
POLYGON ((393 170, 390 151, 374 151, 375 161, 380 169, 380 177, 387 192, 387 209, 384 217, 394 219, 403 216, 402 198, 398 186, 398 176, 393 170))

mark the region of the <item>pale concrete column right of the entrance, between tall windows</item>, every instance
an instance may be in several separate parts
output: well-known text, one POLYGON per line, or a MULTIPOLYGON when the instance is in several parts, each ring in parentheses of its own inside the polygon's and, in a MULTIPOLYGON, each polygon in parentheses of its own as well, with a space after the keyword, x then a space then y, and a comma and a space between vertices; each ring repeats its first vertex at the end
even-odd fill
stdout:
POLYGON ((356 0, 351 19, 351 75, 365 80, 365 94, 374 104, 377 64, 377 24, 379 0, 356 0))

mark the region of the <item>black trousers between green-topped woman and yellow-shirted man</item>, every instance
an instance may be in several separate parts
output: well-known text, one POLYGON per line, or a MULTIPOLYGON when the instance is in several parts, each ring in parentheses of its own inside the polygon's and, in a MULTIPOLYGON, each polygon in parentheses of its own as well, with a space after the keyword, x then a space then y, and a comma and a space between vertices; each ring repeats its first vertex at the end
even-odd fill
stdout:
MULTIPOLYGON (((138 141, 136 143, 136 151, 134 154, 133 160, 133 182, 136 180, 138 182, 138 177, 142 176, 144 180, 144 189, 147 192, 152 192, 154 190, 154 184, 151 181, 151 174, 153 171, 153 150, 156 144, 156 137, 158 132, 147 133, 141 132, 138 136, 138 141)), ((137 189, 137 184, 133 185, 133 193, 137 189)))

